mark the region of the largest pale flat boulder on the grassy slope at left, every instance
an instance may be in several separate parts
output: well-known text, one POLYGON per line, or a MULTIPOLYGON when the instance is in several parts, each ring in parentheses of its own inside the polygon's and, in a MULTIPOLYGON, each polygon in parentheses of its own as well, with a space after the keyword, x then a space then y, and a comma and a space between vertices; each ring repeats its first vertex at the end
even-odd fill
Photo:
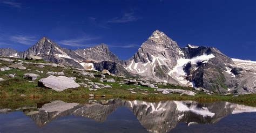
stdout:
POLYGON ((42 78, 38 81, 38 86, 44 86, 51 88, 55 91, 64 91, 68 88, 77 88, 80 87, 79 84, 75 82, 72 78, 68 78, 65 76, 49 76, 47 78, 42 78))

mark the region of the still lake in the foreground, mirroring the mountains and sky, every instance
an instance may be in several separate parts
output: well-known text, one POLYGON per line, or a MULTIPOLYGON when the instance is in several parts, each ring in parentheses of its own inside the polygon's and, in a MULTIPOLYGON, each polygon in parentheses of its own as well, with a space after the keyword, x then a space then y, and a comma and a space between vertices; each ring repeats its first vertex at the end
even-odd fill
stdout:
POLYGON ((0 132, 256 132, 256 107, 230 102, 56 100, 0 108, 0 132))

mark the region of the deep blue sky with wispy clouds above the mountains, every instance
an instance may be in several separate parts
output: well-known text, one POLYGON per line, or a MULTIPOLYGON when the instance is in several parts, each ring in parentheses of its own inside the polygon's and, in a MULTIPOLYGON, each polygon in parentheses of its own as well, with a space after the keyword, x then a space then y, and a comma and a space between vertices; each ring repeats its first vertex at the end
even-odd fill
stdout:
POLYGON ((0 47, 23 51, 48 36, 77 49, 106 43, 122 60, 159 29, 180 47, 217 47, 256 61, 254 0, 0 0, 0 47))

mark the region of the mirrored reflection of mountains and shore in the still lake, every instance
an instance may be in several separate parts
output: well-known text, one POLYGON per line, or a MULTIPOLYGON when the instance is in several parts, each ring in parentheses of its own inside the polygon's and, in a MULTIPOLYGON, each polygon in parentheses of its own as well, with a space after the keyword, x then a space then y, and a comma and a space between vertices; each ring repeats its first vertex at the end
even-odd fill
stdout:
MULTIPOLYGON (((187 126, 192 124, 215 124, 229 114, 256 112, 256 107, 232 104, 224 101, 201 104, 195 101, 145 102, 121 99, 109 100, 106 105, 100 104, 100 102, 77 104, 57 100, 22 110, 39 127, 44 127, 60 117, 70 115, 82 116, 97 122, 104 122, 119 107, 129 109, 148 132, 169 132, 176 128, 180 122, 186 123, 187 126)), ((14 109, 0 109, 0 113, 7 113, 6 115, 8 115, 8 112, 11 112, 11 110, 14 109)), ((2 115, 0 115, 0 118, 2 115)), ((97 127, 97 125, 95 126, 97 127)), ((125 127, 123 128, 125 129, 125 127)), ((1 130, 3 129, 0 128, 0 132, 1 130)))

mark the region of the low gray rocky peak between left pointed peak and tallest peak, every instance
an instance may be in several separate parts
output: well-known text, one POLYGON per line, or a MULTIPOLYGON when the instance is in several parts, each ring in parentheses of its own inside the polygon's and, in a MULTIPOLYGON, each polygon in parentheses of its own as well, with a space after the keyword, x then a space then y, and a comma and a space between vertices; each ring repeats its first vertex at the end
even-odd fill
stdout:
POLYGON ((86 60, 101 62, 101 61, 112 61, 120 63, 119 58, 114 55, 107 45, 104 43, 97 45, 95 47, 86 48, 86 49, 77 49, 75 52, 85 58, 86 60))

